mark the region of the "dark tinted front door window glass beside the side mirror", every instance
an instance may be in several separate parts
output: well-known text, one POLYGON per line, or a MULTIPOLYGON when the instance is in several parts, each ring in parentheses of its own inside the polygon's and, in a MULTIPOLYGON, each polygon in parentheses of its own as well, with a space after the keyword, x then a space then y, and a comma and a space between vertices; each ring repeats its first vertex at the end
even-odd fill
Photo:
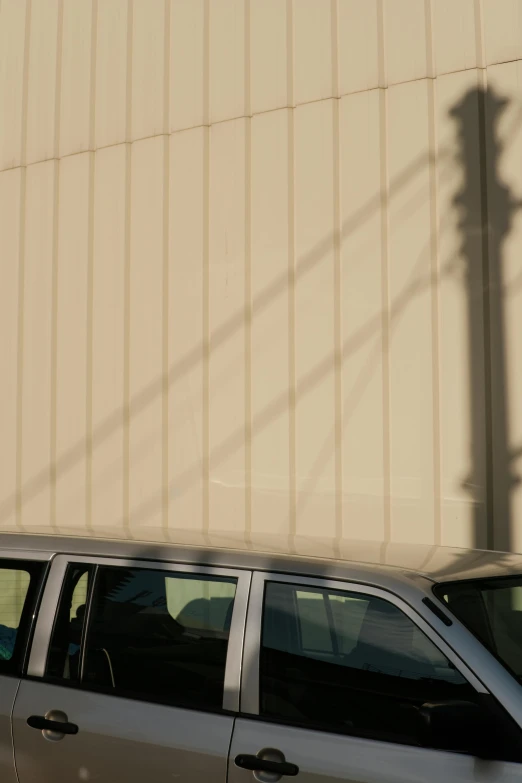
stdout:
POLYGON ((412 620, 381 598, 268 582, 260 711, 270 718, 418 744, 416 711, 474 689, 412 620))

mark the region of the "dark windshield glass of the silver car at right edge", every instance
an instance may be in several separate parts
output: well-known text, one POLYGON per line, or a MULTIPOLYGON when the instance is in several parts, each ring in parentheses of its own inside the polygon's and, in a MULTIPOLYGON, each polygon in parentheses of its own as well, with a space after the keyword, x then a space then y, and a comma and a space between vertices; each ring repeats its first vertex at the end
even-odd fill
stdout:
POLYGON ((522 576, 453 582, 435 593, 522 680, 522 576))

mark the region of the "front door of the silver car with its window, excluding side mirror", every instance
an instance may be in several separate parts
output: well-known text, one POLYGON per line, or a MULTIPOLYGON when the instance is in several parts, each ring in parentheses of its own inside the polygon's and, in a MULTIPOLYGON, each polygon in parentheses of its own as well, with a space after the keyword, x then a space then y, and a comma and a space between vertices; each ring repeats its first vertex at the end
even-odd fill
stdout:
POLYGON ((391 593, 255 574, 229 783, 247 783, 252 774, 267 783, 285 776, 303 783, 522 781, 519 763, 419 746, 420 705, 484 693, 391 593))

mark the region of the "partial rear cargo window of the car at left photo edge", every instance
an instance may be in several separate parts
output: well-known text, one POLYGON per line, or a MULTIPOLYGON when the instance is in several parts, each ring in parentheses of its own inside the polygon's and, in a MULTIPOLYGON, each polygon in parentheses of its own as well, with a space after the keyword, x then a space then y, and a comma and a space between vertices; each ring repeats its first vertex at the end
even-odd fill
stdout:
POLYGON ((0 560, 0 674, 17 673, 30 630, 43 565, 0 560))

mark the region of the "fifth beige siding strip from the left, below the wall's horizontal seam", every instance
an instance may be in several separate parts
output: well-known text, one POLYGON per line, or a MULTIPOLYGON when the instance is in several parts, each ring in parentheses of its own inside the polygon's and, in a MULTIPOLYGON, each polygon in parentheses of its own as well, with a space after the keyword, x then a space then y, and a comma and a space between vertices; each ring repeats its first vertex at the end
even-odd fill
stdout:
POLYGON ((130 153, 127 301, 128 510, 124 528, 163 525, 163 139, 130 153))

